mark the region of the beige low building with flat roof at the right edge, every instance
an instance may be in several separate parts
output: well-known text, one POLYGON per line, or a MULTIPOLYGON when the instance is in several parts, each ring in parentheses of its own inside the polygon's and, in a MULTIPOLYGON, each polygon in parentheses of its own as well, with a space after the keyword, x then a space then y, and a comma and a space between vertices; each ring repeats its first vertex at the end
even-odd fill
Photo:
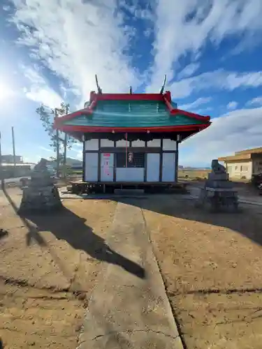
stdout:
POLYGON ((251 179, 252 174, 262 173, 262 147, 235 151, 233 156, 218 159, 224 161, 229 178, 251 179))

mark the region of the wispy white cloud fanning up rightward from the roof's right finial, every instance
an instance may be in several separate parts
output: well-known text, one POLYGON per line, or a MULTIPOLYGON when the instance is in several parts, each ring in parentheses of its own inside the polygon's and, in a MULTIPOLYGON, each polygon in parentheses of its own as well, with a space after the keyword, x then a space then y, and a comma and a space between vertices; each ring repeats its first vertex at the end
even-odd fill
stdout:
POLYGON ((229 36, 250 38, 262 31, 261 0, 160 0, 156 11, 150 91, 159 89, 164 74, 172 79, 180 57, 199 58, 208 41, 218 45, 229 36))

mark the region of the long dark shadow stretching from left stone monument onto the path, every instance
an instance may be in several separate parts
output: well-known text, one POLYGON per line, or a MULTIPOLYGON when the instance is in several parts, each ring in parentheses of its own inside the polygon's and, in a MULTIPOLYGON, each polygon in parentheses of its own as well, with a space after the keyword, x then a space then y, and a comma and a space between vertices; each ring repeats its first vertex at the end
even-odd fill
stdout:
POLYGON ((32 240, 35 240, 41 246, 46 246, 45 239, 41 237, 39 232, 50 231, 57 239, 66 240, 73 248, 84 251, 92 258, 118 265, 126 272, 138 276, 140 279, 145 279, 145 269, 113 251, 102 237, 94 234, 92 228, 85 224, 85 218, 77 216, 64 206, 52 214, 20 214, 8 191, 3 192, 10 205, 29 229, 27 233, 28 246, 32 240))

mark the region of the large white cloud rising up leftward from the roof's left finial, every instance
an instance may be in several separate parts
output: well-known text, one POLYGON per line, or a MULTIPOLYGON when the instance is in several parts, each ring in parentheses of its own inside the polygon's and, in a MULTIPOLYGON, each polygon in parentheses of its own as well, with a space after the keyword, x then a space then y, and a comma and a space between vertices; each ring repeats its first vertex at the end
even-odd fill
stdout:
POLYGON ((95 74, 106 92, 136 87, 136 71, 123 53, 129 33, 121 27, 121 13, 115 14, 115 0, 13 3, 13 22, 21 32, 19 43, 78 90, 82 101, 96 88, 95 74))

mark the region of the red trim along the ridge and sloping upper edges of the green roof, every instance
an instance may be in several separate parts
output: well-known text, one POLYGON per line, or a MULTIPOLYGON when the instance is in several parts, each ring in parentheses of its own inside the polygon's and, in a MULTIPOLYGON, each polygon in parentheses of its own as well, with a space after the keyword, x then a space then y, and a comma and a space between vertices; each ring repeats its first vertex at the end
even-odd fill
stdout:
POLYGON ((200 120, 203 122, 210 122, 210 117, 203 117, 193 112, 186 112, 184 110, 176 109, 171 105, 170 91, 166 91, 165 94, 96 94, 94 91, 90 94, 90 105, 84 109, 72 112, 71 114, 64 115, 63 117, 57 117, 54 120, 54 128, 61 129, 64 121, 68 121, 78 117, 80 115, 93 114, 94 108, 98 101, 163 101, 168 107, 170 115, 182 114, 192 119, 200 120))

